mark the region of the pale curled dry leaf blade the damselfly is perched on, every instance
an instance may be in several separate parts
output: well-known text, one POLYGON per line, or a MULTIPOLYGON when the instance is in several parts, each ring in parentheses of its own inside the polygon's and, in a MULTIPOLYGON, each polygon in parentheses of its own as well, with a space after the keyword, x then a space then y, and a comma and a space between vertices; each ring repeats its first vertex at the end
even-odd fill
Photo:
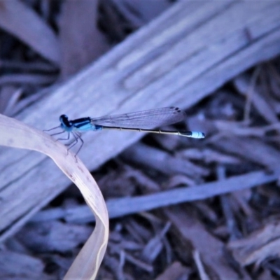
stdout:
POLYGON ((109 237, 106 204, 97 183, 79 159, 66 147, 41 131, 0 115, 0 145, 26 148, 48 155, 66 176, 76 184, 96 218, 96 227, 64 279, 95 279, 104 257, 109 237))

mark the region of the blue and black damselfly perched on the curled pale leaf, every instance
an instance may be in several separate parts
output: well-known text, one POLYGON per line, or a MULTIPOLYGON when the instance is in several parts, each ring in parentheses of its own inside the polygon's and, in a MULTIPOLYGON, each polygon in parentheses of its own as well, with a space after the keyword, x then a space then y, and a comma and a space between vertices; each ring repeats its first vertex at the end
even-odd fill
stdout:
MULTIPOLYGON (((63 131, 52 135, 66 132, 68 133, 68 137, 59 140, 69 140, 70 134, 73 134, 74 140, 69 144, 69 149, 75 146, 78 143, 78 140, 81 141, 81 145, 78 148, 76 155, 83 146, 83 139, 80 137, 79 132, 87 132, 89 130, 128 130, 134 132, 173 134, 196 139, 202 139, 205 137, 203 132, 154 129, 155 127, 178 123, 184 119, 186 119, 186 113, 181 111, 178 107, 166 107, 135 113, 103 116, 100 118, 77 118, 76 120, 69 120, 66 115, 62 115, 59 117, 60 125, 58 127, 61 127, 63 131)), ((54 130, 58 127, 54 127, 50 130, 54 130)))

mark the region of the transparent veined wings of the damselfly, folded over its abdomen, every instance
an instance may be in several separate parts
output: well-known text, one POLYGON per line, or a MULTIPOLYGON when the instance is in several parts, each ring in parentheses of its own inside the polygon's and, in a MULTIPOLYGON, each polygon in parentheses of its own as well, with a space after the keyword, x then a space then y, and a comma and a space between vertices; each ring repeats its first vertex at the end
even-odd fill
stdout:
POLYGON ((185 118, 186 113, 181 111, 181 109, 177 107, 166 107, 122 115, 92 118, 91 121, 92 125, 153 129, 163 125, 178 123, 185 118))

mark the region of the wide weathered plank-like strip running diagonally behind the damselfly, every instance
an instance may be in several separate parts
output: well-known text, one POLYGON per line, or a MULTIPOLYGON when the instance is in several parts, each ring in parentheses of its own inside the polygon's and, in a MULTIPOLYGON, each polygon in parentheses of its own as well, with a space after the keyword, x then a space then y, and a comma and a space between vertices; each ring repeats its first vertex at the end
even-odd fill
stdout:
MULTIPOLYGON (((181 1, 15 118, 43 130, 57 126, 62 113, 78 118, 172 105, 188 109, 278 55, 279 25, 279 1, 181 1)), ((79 155, 95 169, 141 137, 89 132, 79 155)), ((8 148, 0 153, 3 240, 69 181, 43 155, 8 148)))

